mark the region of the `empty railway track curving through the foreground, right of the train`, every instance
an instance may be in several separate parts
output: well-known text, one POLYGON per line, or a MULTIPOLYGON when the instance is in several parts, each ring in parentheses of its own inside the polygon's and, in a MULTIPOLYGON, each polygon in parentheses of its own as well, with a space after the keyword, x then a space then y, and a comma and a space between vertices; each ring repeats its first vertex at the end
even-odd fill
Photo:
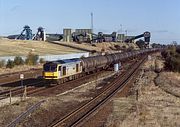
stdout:
MULTIPOLYGON (((147 56, 146 56, 147 57, 147 56)), ((115 93, 125 87, 127 82, 136 74, 139 67, 145 62, 146 57, 136 62, 136 64, 130 68, 123 76, 118 76, 108 87, 106 87, 95 98, 84 104, 82 107, 78 107, 71 113, 67 114, 60 120, 52 123, 51 127, 67 127, 76 126, 82 122, 86 117, 96 111, 105 102, 107 102, 115 93)))

